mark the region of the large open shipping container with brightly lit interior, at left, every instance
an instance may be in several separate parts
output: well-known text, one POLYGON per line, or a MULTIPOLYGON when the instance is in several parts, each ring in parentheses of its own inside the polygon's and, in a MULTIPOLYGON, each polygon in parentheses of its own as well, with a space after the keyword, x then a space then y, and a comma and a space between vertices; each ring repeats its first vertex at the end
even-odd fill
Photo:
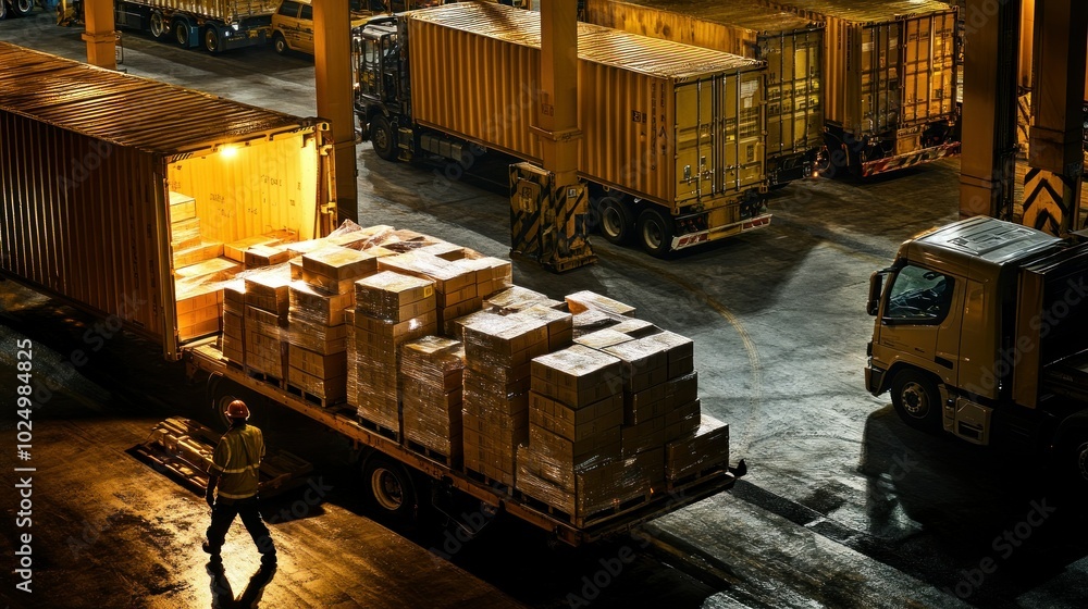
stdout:
POLYGON ((197 278, 178 274, 185 262, 333 221, 320 120, 7 42, 0 66, 0 272, 123 321, 169 358, 200 327, 186 319, 196 299, 178 304, 197 278))

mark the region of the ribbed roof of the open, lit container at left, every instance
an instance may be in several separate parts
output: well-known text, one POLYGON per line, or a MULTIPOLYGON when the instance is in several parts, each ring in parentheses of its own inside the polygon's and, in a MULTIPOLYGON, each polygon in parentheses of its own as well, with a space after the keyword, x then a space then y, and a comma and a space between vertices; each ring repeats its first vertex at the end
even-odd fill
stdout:
POLYGON ((0 111, 168 156, 317 122, 9 42, 0 42, 0 111))

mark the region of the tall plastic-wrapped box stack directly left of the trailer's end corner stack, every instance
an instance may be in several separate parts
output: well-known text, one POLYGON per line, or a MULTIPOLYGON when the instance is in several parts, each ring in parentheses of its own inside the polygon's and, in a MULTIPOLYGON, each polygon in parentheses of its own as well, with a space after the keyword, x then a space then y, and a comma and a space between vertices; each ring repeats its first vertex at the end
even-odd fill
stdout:
POLYGON ((512 487, 529 432, 530 362, 547 353, 547 322, 487 314, 463 332, 465 468, 512 487))

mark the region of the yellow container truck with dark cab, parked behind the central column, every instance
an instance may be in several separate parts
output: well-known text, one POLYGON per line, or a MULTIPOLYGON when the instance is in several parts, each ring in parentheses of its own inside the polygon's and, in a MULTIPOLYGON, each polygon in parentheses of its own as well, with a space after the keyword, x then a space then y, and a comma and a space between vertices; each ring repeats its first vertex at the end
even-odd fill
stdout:
MULTIPOLYGON (((579 173, 605 238, 664 256, 769 224, 766 64, 578 27, 579 173)), ((369 21, 353 42, 364 139, 388 161, 483 147, 539 163, 539 33, 537 13, 491 3, 369 21)))

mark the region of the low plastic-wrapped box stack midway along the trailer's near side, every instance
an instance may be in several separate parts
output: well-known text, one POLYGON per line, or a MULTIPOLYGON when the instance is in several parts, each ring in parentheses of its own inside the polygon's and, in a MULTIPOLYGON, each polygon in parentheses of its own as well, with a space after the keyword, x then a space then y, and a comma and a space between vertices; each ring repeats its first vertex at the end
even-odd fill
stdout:
POLYGON ((465 347, 459 340, 425 336, 406 343, 400 356, 405 438, 461 461, 461 387, 465 347))

